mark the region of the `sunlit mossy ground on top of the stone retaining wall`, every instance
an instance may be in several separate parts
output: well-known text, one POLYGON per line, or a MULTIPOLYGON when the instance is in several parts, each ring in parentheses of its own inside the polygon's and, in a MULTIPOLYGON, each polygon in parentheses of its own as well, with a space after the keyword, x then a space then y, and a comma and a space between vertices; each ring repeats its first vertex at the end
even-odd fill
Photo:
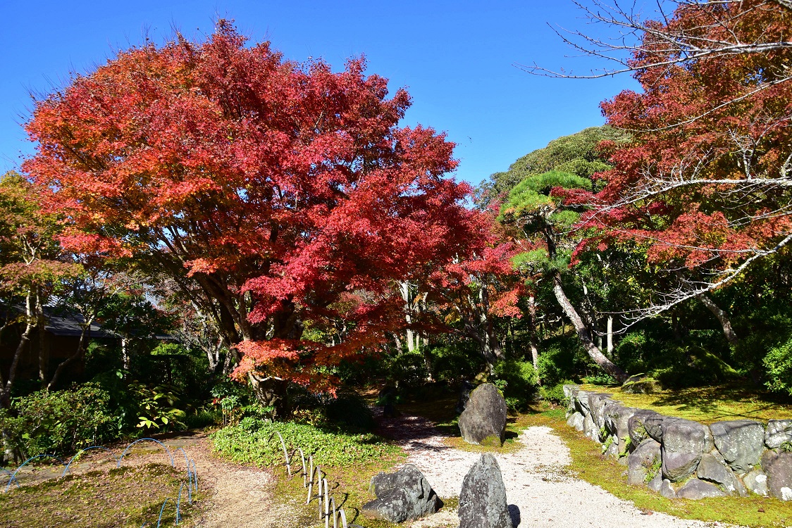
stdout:
POLYGON ((664 390, 654 394, 623 393, 619 386, 581 385, 581 389, 611 393, 613 399, 637 408, 649 408, 702 424, 721 420, 783 420, 792 418, 792 404, 757 394, 742 384, 664 390))

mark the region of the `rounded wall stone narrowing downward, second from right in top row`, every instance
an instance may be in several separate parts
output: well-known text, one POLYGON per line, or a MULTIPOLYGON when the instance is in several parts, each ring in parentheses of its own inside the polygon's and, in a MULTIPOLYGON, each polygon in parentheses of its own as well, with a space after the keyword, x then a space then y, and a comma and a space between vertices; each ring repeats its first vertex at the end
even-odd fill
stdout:
POLYGON ((715 447, 732 469, 747 473, 764 450, 764 426, 753 420, 729 420, 710 425, 715 447))

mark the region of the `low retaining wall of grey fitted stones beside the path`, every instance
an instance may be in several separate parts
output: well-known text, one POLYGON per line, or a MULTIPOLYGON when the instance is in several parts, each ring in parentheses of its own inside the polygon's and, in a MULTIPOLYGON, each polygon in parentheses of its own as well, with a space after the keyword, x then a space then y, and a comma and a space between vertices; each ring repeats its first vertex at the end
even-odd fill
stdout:
POLYGON ((792 500, 792 420, 706 426, 564 386, 567 424, 626 465, 630 484, 668 498, 756 493, 792 500))

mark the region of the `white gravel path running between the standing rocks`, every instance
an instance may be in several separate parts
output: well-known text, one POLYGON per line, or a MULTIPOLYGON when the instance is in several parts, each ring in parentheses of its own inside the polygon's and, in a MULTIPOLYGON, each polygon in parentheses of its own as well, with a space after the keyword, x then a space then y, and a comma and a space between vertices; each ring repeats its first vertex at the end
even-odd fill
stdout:
MULTIPOLYGON (((410 424, 413 432, 417 425, 414 421, 410 424)), ((569 450, 552 431, 550 427, 529 427, 519 438, 524 448, 496 455, 512 505, 512 520, 519 521, 518 526, 725 526, 641 511, 598 486, 569 477, 564 469, 571 462, 569 450)), ((441 498, 459 496, 463 478, 481 455, 447 446, 442 435, 430 435, 428 428, 422 432, 417 439, 403 440, 408 452, 406 462, 421 469, 441 498)), ((456 511, 444 508, 428 519, 413 522, 410 528, 439 526, 459 526, 456 511)))

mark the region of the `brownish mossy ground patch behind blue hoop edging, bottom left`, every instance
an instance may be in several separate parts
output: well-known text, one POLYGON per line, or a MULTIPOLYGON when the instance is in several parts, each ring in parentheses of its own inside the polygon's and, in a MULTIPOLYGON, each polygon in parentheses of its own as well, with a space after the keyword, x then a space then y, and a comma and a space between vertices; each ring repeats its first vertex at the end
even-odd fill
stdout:
MULTIPOLYGON (((93 471, 12 488, 0 494, 0 526, 46 528, 48 526, 109 528, 135 526, 146 522, 156 526, 162 503, 162 526, 176 522, 176 500, 183 471, 169 465, 147 464, 109 471, 93 471)), ((194 526, 199 495, 193 505, 186 486, 180 503, 179 526, 194 526)))

